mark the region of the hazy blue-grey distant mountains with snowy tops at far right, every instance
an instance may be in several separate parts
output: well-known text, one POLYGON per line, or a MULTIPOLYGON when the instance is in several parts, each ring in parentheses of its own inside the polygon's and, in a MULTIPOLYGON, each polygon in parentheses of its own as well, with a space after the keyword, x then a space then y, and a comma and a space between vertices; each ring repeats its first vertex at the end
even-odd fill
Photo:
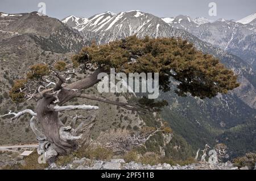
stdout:
POLYGON ((164 18, 171 27, 185 30, 203 41, 235 54, 256 69, 256 19, 253 15, 243 20, 218 19, 199 21, 189 16, 164 18), (241 23, 243 22, 243 23, 241 23), (247 23, 247 24, 245 24, 247 23))

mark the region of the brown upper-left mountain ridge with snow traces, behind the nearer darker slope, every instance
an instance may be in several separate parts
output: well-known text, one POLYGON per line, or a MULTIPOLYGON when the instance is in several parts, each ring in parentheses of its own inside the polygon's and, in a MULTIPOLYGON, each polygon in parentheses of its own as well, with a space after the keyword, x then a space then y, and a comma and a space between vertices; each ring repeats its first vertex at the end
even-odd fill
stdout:
POLYGON ((0 14, 2 41, 11 37, 29 36, 44 51, 56 53, 77 52, 84 45, 85 39, 80 34, 65 26, 59 20, 40 15, 38 12, 25 14, 0 14))

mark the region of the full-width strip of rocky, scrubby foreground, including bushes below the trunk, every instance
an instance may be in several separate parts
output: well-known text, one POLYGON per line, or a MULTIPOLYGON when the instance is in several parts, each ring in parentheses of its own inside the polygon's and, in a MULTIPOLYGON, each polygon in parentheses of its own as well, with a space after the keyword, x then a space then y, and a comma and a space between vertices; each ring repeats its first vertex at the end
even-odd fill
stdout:
MULTIPOLYGON (((30 165, 36 165, 38 155, 34 154, 30 165)), ((46 170, 256 170, 256 163, 254 167, 244 166, 238 168, 228 161, 225 163, 210 164, 207 162, 196 162, 189 165, 170 165, 168 163, 159 163, 157 165, 145 165, 139 162, 126 162, 124 159, 108 159, 108 160, 95 160, 88 158, 72 158, 67 162, 56 162, 51 166, 39 165, 37 167, 27 166, 26 157, 22 157, 18 152, 5 151, 0 157, 0 170, 1 169, 46 169, 46 170), (19 165, 18 167, 16 167, 19 165), (20 167, 21 166, 21 167, 20 167)))

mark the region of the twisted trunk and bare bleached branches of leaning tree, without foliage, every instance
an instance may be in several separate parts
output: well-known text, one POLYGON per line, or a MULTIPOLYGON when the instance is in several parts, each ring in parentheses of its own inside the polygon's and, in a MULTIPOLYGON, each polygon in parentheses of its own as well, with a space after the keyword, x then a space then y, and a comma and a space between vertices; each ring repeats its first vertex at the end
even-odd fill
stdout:
POLYGON ((39 98, 36 105, 36 113, 32 110, 24 110, 19 113, 9 112, 6 115, 14 115, 11 120, 18 119, 24 113, 30 113, 32 115, 30 125, 36 137, 39 141, 38 152, 46 151, 46 159, 49 163, 55 161, 57 155, 68 154, 74 151, 78 146, 88 145, 90 142, 90 131, 94 125, 94 119, 88 119, 82 121, 82 123, 75 128, 76 120, 84 117, 76 116, 70 126, 64 125, 59 116, 60 111, 72 111, 72 110, 97 110, 97 106, 62 106, 73 98, 85 98, 90 100, 97 100, 104 103, 114 104, 126 108, 127 110, 135 110, 137 107, 133 107, 128 103, 115 102, 106 98, 100 98, 97 96, 82 94, 80 91, 88 89, 98 83, 98 74, 104 72, 104 69, 99 68, 94 73, 82 79, 65 85, 66 79, 61 76, 57 71, 53 70, 55 76, 59 79, 57 83, 44 81, 46 86, 40 85, 38 88, 39 98), (44 87, 53 86, 53 88, 46 89, 44 87), (44 88, 44 90, 42 90, 44 88), (39 121, 42 126, 43 132, 35 126, 35 121, 39 121), (82 134, 85 133, 84 136, 82 134))

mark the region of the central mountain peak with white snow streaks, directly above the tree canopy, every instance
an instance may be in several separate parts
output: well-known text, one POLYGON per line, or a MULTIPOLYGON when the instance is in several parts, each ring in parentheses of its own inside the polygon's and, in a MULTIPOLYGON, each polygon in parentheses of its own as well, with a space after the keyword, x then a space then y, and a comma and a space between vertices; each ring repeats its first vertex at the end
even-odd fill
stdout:
POLYGON ((139 10, 113 14, 104 12, 88 18, 88 22, 76 27, 87 38, 97 36, 100 44, 135 33, 143 37, 174 36, 174 30, 162 19, 139 10))

